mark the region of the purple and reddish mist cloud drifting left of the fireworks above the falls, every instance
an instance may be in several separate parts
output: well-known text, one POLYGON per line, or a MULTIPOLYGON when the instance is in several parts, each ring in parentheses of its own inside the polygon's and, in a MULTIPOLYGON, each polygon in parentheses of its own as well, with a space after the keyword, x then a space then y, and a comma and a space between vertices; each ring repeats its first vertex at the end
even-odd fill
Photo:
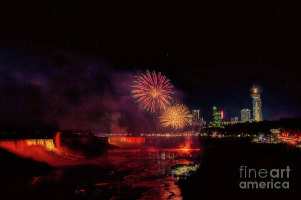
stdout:
POLYGON ((116 133, 160 129, 158 116, 140 110, 131 95, 140 71, 114 70, 99 59, 64 51, 0 52, 2 123, 116 133))

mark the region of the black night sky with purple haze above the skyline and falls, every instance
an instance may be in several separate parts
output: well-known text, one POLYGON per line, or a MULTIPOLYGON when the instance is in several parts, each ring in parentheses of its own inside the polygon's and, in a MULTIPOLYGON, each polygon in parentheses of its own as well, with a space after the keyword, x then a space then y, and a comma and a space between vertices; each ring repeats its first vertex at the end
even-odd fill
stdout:
POLYGON ((254 85, 263 119, 300 116, 299 14, 129 7, 3 10, 2 121, 55 121, 99 131, 131 130, 139 123, 139 131, 151 129, 158 126, 156 116, 136 110, 126 93, 133 75, 146 69, 165 74, 175 97, 200 109, 207 122, 214 105, 224 110, 225 120, 240 120, 241 109, 252 109, 254 85))

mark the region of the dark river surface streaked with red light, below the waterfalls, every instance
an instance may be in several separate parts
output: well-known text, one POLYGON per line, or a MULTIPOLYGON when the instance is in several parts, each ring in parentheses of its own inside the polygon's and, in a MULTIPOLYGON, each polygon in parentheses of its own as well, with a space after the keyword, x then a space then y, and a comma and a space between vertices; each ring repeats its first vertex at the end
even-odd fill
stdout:
POLYGON ((101 199, 182 199, 175 184, 177 178, 165 171, 175 164, 190 163, 185 156, 187 153, 182 151, 153 147, 112 149, 96 158, 96 168, 89 165, 56 168, 46 176, 32 178, 29 188, 51 184, 61 192, 67 186, 65 195, 73 192, 76 196, 101 196, 101 199))

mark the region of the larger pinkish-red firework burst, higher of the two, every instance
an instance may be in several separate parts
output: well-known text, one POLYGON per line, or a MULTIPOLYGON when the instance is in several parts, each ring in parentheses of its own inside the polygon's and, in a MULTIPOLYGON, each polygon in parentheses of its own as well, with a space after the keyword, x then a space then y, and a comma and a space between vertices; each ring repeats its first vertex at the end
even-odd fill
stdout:
POLYGON ((134 94, 133 97, 137 98, 135 102, 139 104, 139 108, 158 113, 158 109, 165 109, 166 105, 170 104, 169 100, 172 99, 170 94, 174 93, 173 85, 160 72, 158 75, 155 71, 150 74, 147 70, 146 74, 142 73, 141 76, 135 77, 136 85, 132 87, 136 89, 131 92, 134 94))

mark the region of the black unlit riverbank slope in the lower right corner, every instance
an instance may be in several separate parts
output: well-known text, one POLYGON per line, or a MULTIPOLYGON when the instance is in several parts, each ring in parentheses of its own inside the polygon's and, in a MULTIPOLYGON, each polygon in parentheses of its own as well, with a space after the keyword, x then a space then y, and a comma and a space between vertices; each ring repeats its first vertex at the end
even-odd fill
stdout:
POLYGON ((211 198, 279 198, 299 193, 301 179, 301 151, 289 149, 285 144, 254 144, 244 139, 210 139, 205 142, 204 160, 197 174, 180 179, 184 199, 196 199, 197 193, 211 198), (259 169, 278 169, 289 166, 289 177, 273 181, 289 181, 289 188, 240 188, 241 181, 271 181, 271 178, 240 177, 241 166, 259 169))

